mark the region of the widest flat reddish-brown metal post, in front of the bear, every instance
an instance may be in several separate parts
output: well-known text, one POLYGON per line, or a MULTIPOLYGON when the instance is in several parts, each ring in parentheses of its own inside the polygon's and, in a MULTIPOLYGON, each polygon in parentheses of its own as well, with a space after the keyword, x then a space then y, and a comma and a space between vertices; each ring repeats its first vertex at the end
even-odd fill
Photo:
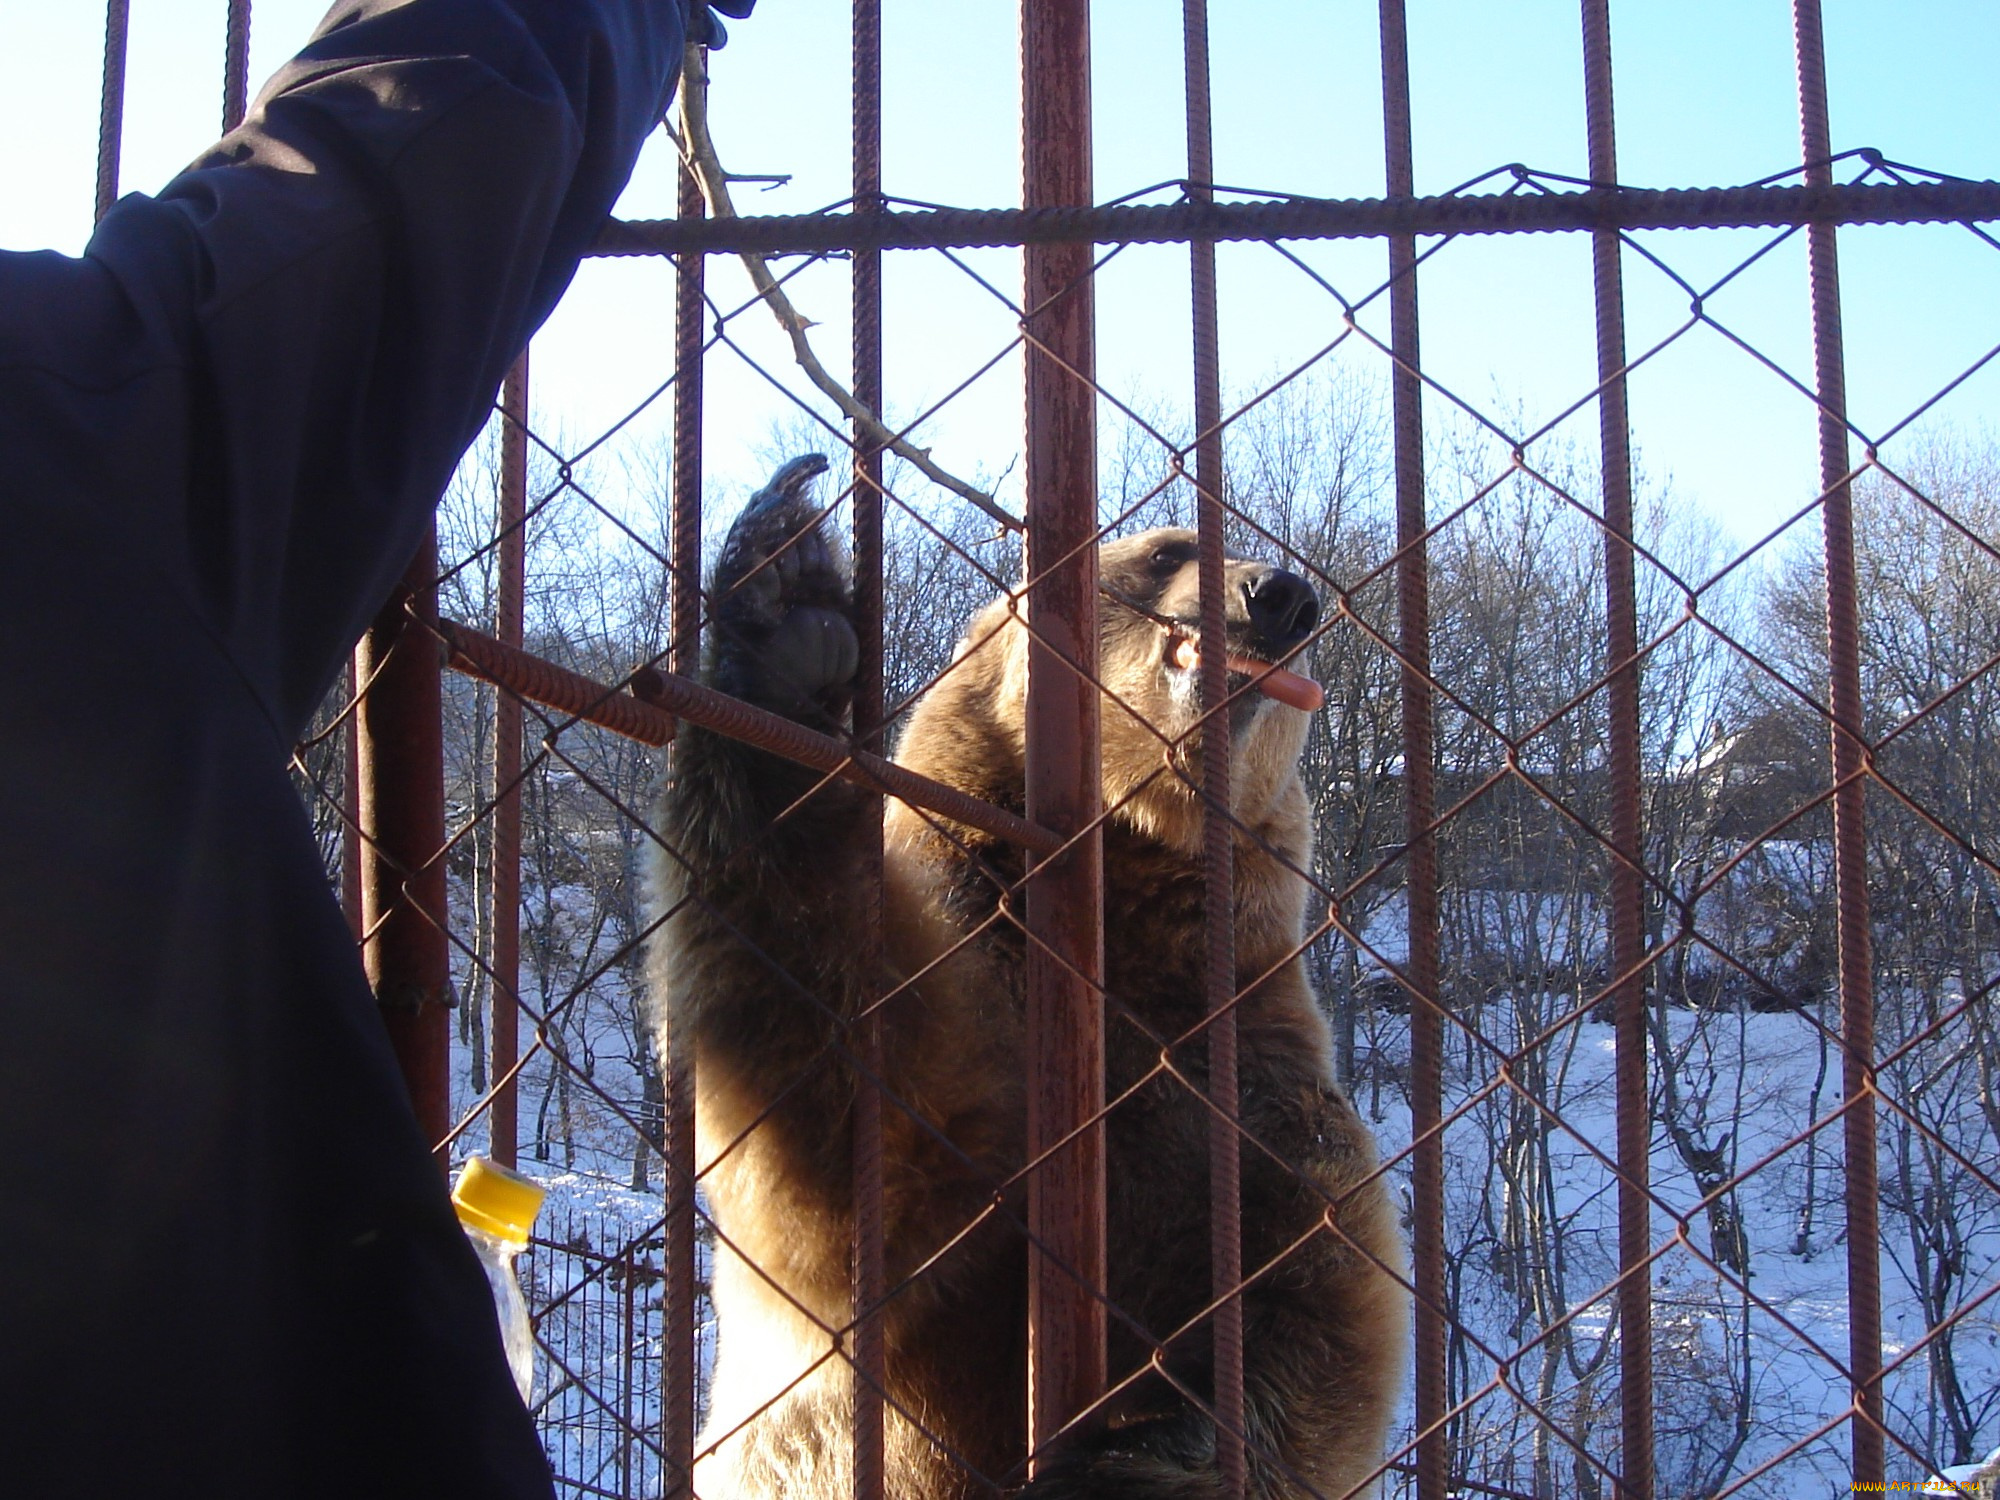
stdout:
MULTIPOLYGON (((1022 0, 1022 202, 1080 206, 1090 10, 1022 0)), ((1104 1390, 1104 840, 1098 780, 1096 370, 1090 246, 1024 256, 1028 818, 1074 838, 1028 882, 1028 1450, 1104 1390), (1088 832, 1086 832, 1088 830, 1088 832)))

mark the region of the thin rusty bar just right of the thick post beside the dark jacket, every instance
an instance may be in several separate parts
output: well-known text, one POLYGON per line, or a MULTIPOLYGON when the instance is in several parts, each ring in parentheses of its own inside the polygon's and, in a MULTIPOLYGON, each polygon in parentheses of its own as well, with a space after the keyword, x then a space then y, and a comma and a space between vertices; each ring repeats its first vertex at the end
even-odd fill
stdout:
MULTIPOLYGON (((528 570, 528 352, 522 350, 500 388, 500 512, 494 516, 494 644, 518 652, 526 632, 528 570)), ((486 1032, 486 1116, 490 1152, 514 1166, 520 1138, 520 1082, 508 1074, 520 1058, 520 732, 522 706, 512 692, 494 694, 492 876, 486 882, 492 950, 488 982, 492 1018, 486 1032), (502 1082, 504 1080, 504 1082, 502 1082)))

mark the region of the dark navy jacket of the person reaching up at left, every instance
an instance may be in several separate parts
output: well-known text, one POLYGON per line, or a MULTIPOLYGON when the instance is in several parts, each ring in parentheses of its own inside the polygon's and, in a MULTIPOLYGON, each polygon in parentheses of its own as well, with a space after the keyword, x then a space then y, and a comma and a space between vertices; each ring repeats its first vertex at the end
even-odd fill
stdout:
POLYGON ((288 746, 668 100, 682 0, 344 0, 0 254, 0 1490, 546 1500, 288 746))

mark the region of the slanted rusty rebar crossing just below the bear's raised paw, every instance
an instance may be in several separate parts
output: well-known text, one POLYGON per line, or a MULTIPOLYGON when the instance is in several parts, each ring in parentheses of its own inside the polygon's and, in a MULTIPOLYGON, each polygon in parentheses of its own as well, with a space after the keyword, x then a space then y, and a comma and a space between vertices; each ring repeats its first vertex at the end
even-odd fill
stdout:
POLYGON ((470 630, 450 620, 440 620, 438 636, 446 646, 448 664, 466 676, 482 678, 522 698, 532 698, 564 714, 574 714, 590 724, 624 734, 642 744, 666 744, 674 738, 676 720, 700 724, 732 740, 754 744, 796 760, 812 770, 822 770, 872 792, 888 792, 914 808, 936 812, 966 828, 978 828, 994 838, 1032 850, 1054 854, 1062 840, 1046 828, 1020 818, 992 802, 980 802, 954 786, 904 770, 894 760, 854 750, 848 744, 818 734, 804 724, 754 708, 726 692, 704 688, 700 682, 640 668, 622 688, 610 688, 594 678, 580 676, 568 668, 544 662, 532 652, 502 646, 492 636, 470 630))

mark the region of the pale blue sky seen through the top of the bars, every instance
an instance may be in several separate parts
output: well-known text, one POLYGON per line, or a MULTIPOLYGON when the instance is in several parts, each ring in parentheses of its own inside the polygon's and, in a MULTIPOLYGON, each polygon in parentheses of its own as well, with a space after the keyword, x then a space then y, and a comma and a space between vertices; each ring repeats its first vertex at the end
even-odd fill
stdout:
MULTIPOLYGON (((222 0, 134 0, 122 186, 164 182, 214 134, 220 112, 222 0)), ((310 32, 318 0, 258 0, 254 72, 270 72, 310 32)), ((1366 0, 1216 4, 1218 178, 1254 188, 1372 196, 1382 190, 1376 6, 1366 0)), ((886 0, 886 180, 894 194, 984 206, 1018 202, 1016 8, 1012 0, 886 0)), ((1576 0, 1412 0, 1418 190, 1450 188, 1508 162, 1582 174, 1582 62, 1576 0)), ((792 184, 746 188, 746 212, 798 212, 846 192, 846 6, 762 0, 714 60, 714 128, 744 172, 792 184)), ((1990 0, 1830 0, 1836 148, 1962 176, 2000 176, 2000 6, 1990 0)), ((1744 182, 1798 162, 1790 4, 1786 0, 1632 0, 1612 4, 1620 176, 1636 186, 1744 182)), ((1184 172, 1178 0, 1094 6, 1098 196, 1184 172)), ((90 0, 0 0, 0 130, 12 142, 0 192, 0 246, 64 252, 88 236, 96 152, 102 8, 90 0)), ((672 212, 670 156, 648 150, 624 212, 672 212)), ((1694 282, 1772 240, 1766 232, 1660 232, 1648 248, 1694 282)), ((1348 298, 1384 276, 1378 244, 1302 246, 1348 298)), ((1002 292, 1018 256, 964 258, 1002 292)), ((2000 252, 1964 228, 1846 230, 1842 274, 1856 422, 1882 432, 2000 344, 2000 252)), ((744 282, 716 262, 712 286, 734 306, 744 282)), ((1686 296, 1626 256, 1628 346, 1678 326, 1686 296)), ((834 364, 846 348, 846 274, 810 268, 800 306, 824 324, 834 364)), ((1012 314, 946 258, 890 256, 892 414, 914 416, 998 354, 1012 314)), ((578 446, 636 406, 666 374, 672 290, 664 266, 596 262, 536 346, 536 406, 578 446)), ((1460 240, 1422 278, 1426 370, 1482 412, 1528 428, 1594 384, 1588 244, 1582 236, 1460 240)), ((1712 302, 1718 320, 1796 376, 1808 376, 1804 250, 1786 242, 1712 302)), ((1222 254, 1226 382, 1248 392, 1340 332, 1340 308, 1264 246, 1222 254)), ((1386 310, 1364 324, 1382 330, 1386 310)), ((1172 248, 1116 256, 1100 274, 1100 378, 1148 410, 1184 404, 1186 258, 1172 248)), ((798 388, 760 314, 732 324, 746 352, 798 388)), ((1350 344, 1364 378, 1382 360, 1350 344)), ((730 352, 710 364, 710 472, 746 484, 792 400, 730 352)), ((1018 366, 1002 360, 920 430, 968 474, 1008 470, 1018 448, 1018 366)), ((1990 430, 2000 370, 1956 390, 1932 420, 1990 430)), ((1696 330, 1632 380, 1646 472, 1740 540, 1752 540, 1816 488, 1812 410, 1772 372, 1710 330, 1696 330)), ((1442 408, 1440 408, 1442 418, 1442 408)), ((664 406, 612 450, 642 456, 664 406)), ((1594 442, 1590 408, 1556 434, 1594 442)), ((606 460, 614 452, 606 452, 606 460)), ((1894 456, 1894 446, 1888 450, 1894 456)), ((1496 454, 1498 460, 1500 454, 1496 454)), ((1014 480, 1018 484, 1018 474, 1014 480)), ((1018 494, 1012 496, 1018 504, 1018 494)))

